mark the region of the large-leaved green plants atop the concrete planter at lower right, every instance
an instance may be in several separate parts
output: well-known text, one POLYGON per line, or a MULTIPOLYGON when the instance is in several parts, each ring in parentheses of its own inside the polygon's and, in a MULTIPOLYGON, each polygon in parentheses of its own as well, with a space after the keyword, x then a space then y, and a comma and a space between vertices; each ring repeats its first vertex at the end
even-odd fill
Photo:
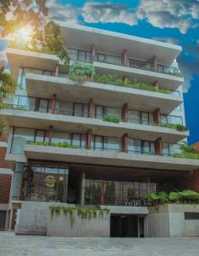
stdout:
POLYGON ((178 203, 178 204, 198 204, 199 194, 192 190, 184 190, 177 192, 170 192, 169 195, 165 192, 159 192, 157 194, 151 193, 149 199, 154 204, 166 204, 166 203, 178 203))

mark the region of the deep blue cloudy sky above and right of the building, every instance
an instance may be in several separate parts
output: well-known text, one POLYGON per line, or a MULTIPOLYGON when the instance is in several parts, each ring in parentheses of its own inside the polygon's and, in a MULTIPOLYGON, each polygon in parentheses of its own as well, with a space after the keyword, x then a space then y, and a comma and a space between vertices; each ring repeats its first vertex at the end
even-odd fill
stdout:
MULTIPOLYGON (((182 46, 189 143, 199 141, 199 0, 47 0, 49 17, 182 46)), ((3 49, 0 41, 0 51, 3 49)))

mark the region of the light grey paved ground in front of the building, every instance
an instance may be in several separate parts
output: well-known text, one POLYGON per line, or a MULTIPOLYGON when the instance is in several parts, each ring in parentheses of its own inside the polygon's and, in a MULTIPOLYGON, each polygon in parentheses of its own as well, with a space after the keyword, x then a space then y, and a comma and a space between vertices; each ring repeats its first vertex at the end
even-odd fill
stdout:
POLYGON ((199 238, 68 238, 0 232, 0 255, 198 256, 199 238))

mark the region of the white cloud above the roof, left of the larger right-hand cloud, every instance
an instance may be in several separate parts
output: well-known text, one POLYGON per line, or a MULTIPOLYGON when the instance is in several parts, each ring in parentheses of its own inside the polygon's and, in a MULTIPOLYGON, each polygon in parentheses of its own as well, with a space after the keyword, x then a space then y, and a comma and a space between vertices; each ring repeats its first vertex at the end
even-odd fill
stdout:
POLYGON ((138 19, 136 14, 121 4, 112 3, 85 3, 82 16, 88 23, 120 22, 128 25, 136 25, 138 19))

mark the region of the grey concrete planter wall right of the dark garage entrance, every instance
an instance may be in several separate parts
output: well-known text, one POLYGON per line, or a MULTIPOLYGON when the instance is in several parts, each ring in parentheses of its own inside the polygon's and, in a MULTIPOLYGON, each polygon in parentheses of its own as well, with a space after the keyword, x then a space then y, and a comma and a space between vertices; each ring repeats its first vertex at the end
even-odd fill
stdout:
POLYGON ((199 218, 185 219, 185 212, 199 213, 199 205, 168 204, 149 207, 149 236, 199 236, 199 218))

